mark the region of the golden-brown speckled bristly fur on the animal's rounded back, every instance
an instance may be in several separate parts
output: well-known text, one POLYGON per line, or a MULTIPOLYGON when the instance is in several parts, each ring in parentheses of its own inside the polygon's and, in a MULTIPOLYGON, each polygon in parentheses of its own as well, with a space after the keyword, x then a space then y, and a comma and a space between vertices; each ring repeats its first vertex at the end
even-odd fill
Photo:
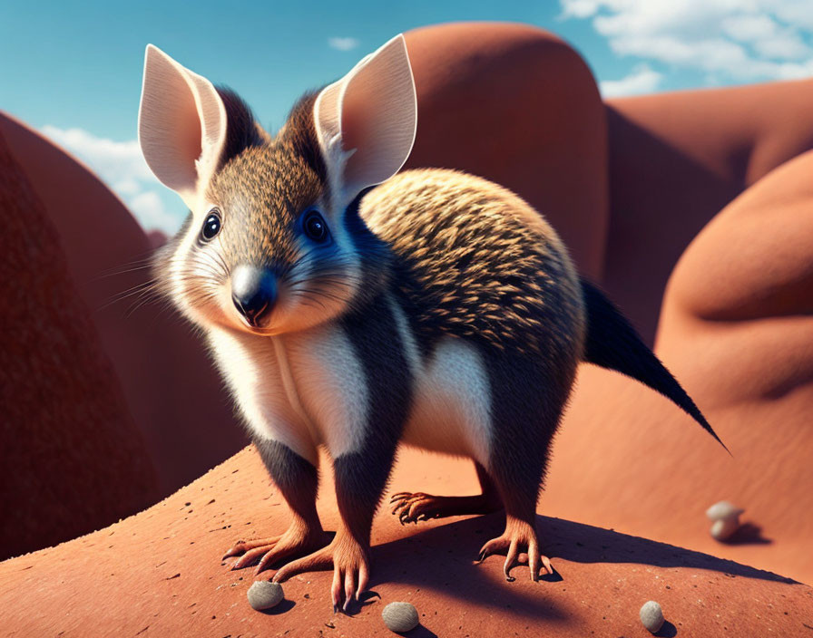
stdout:
POLYGON ((501 351, 580 358, 573 264, 553 228, 514 193, 453 170, 410 170, 367 194, 361 216, 397 257, 397 291, 422 343, 451 334, 501 351))

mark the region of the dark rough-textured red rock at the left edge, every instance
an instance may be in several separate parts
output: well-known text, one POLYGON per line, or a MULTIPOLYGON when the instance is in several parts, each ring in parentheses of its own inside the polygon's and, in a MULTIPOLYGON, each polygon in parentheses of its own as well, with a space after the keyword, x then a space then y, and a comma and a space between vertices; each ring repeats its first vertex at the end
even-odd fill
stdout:
POLYGON ((0 135, 0 558, 159 498, 152 460, 42 202, 0 135))

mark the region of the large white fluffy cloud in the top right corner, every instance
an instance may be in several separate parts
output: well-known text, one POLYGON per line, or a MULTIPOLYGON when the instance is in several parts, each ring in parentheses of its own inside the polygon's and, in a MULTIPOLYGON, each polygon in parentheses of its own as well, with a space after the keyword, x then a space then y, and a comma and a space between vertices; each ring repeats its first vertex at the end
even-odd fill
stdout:
POLYGON ((755 82, 813 74, 813 3, 798 0, 560 0, 612 51, 755 82))

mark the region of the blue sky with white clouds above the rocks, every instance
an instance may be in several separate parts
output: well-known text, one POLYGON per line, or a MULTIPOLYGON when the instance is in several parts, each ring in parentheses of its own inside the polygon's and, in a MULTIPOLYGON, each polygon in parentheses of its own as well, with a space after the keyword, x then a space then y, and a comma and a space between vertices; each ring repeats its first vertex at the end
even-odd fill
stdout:
POLYGON ((605 95, 813 75, 813 3, 801 0, 0 5, 0 109, 81 157, 146 227, 172 231, 180 199, 135 140, 143 51, 230 85, 270 129, 309 88, 399 32, 456 20, 535 24, 568 40, 605 95))

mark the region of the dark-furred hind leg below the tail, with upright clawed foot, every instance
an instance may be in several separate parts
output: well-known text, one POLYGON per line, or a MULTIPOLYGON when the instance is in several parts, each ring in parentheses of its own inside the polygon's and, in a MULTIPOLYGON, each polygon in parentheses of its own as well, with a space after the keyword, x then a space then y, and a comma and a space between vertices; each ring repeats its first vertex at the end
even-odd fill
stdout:
POLYGON ((539 549, 536 501, 575 364, 573 370, 559 366, 555 374, 546 374, 540 369, 541 362, 492 359, 494 437, 488 470, 505 507, 505 531, 485 543, 478 560, 504 554, 505 578, 513 581, 511 569, 520 552, 527 552, 531 580, 535 581, 540 569, 553 574, 550 559, 539 549))

